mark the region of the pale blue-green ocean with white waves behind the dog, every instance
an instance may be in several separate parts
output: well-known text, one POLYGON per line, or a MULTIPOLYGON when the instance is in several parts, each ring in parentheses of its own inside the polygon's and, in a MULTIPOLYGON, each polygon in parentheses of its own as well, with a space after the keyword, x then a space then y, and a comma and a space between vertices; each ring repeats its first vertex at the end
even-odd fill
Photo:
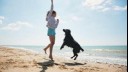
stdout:
MULTIPOLYGON (((45 46, 12 45, 8 47, 26 49, 44 54, 43 48, 45 46)), ((79 56, 77 61, 103 62, 127 66, 127 46, 82 46, 82 48, 85 51, 78 54, 79 56)), ((65 46, 62 50, 60 50, 60 46, 54 46, 53 55, 71 60, 70 57, 73 56, 72 48, 65 46)))

